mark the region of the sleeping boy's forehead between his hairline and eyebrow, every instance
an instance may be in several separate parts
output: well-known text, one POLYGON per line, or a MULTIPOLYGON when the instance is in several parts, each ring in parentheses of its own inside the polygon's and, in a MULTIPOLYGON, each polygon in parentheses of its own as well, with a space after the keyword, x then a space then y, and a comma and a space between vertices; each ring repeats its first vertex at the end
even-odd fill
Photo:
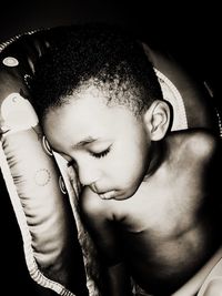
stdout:
POLYGON ((68 98, 62 106, 46 115, 44 133, 52 146, 71 145, 84 137, 114 137, 137 124, 125 106, 108 105, 105 93, 94 86, 82 89, 68 98))

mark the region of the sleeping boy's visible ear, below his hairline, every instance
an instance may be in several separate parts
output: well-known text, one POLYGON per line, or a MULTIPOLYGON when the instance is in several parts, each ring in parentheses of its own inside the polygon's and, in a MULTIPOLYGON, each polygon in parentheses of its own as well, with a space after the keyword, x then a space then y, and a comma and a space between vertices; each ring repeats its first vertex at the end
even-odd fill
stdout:
POLYGON ((143 115, 151 141, 160 141, 169 130, 171 110, 165 101, 155 100, 143 115))

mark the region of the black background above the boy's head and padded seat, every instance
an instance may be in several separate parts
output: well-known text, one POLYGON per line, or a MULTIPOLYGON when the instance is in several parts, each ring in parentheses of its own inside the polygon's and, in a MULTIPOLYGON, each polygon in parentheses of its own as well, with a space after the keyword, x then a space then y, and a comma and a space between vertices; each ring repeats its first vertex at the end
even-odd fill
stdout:
MULTIPOLYGON (((215 1, 216 2, 216 1, 215 1)), ((219 2, 219 1, 218 1, 219 2)), ((107 21, 129 28, 196 69, 219 91, 221 9, 214 1, 26 0, 2 1, 0 41, 39 28, 107 21), (215 73, 216 72, 216 73, 215 73)))

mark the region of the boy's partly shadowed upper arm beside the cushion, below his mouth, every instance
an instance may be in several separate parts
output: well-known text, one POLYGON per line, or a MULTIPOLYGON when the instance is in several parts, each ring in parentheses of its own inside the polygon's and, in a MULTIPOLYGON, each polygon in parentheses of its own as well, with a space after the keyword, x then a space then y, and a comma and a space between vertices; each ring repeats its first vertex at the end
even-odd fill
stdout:
POLYGON ((81 217, 103 262, 108 265, 119 263, 118 226, 112 218, 110 202, 101 200, 88 187, 83 190, 80 201, 81 217))

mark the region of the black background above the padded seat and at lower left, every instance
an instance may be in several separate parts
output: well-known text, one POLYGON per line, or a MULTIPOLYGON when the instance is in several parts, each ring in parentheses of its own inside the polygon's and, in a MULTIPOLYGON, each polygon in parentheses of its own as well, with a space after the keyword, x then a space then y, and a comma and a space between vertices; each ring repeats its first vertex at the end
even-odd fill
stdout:
MULTIPOLYGON (((181 2, 109 0, 30 0, 1 2, 0 42, 22 32, 85 21, 118 23, 149 44, 174 54, 206 80, 221 102, 221 19, 213 1, 181 2), (130 1, 132 3, 130 3, 130 1)), ((0 178, 1 180, 1 178, 0 178)), ((1 181, 2 182, 2 181, 1 181)), ((34 296, 26 267, 21 235, 3 182, 1 247, 6 295, 34 296), (8 284, 7 284, 8 283, 8 284)))

